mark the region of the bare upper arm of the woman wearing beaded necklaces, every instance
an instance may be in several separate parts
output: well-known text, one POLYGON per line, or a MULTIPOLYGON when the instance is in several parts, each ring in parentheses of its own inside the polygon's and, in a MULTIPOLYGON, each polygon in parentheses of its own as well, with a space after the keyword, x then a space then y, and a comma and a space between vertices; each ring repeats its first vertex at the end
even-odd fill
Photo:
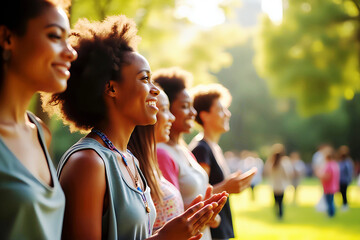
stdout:
POLYGON ((105 165, 93 150, 70 156, 60 175, 66 197, 62 239, 101 239, 105 165))

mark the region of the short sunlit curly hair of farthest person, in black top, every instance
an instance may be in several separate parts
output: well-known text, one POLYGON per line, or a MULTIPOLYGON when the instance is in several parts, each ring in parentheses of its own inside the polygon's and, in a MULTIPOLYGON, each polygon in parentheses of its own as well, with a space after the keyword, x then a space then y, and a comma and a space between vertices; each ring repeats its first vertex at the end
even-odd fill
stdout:
POLYGON ((214 101, 220 99, 220 102, 229 107, 232 97, 227 88, 218 83, 202 84, 190 90, 190 95, 193 98, 193 106, 198 113, 195 117, 195 121, 200 125, 203 125, 203 121, 200 118, 200 112, 209 112, 214 101))

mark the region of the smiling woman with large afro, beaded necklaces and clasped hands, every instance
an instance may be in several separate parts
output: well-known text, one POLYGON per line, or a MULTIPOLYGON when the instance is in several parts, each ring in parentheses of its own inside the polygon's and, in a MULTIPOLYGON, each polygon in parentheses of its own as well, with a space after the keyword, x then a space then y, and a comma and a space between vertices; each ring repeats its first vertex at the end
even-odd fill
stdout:
POLYGON ((150 188, 127 144, 135 126, 156 122, 159 90, 149 63, 136 52, 136 33, 125 16, 80 20, 70 38, 79 56, 68 87, 44 96, 46 109, 72 130, 90 131, 59 163, 63 239, 199 239, 217 205, 200 202, 152 234, 150 188))

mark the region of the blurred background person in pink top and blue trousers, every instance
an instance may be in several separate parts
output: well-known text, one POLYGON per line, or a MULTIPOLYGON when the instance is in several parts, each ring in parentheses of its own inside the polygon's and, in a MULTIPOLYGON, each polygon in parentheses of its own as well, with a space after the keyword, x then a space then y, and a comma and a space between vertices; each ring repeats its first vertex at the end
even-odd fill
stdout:
POLYGON ((335 161, 334 149, 326 146, 323 149, 325 166, 316 172, 323 185, 327 214, 329 217, 335 215, 334 194, 339 191, 340 170, 338 163, 335 161))

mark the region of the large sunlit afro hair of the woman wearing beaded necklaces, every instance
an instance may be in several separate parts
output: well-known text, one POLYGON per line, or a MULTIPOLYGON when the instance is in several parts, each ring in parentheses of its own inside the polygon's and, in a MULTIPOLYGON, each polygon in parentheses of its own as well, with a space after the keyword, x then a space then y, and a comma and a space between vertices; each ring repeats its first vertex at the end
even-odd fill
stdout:
POLYGON ((79 20, 70 37, 78 58, 67 89, 51 97, 43 94, 44 109, 60 115, 71 131, 88 131, 104 120, 106 84, 122 80, 122 66, 130 64, 127 54, 136 51, 140 40, 136 34, 135 22, 124 15, 101 22, 79 20))

